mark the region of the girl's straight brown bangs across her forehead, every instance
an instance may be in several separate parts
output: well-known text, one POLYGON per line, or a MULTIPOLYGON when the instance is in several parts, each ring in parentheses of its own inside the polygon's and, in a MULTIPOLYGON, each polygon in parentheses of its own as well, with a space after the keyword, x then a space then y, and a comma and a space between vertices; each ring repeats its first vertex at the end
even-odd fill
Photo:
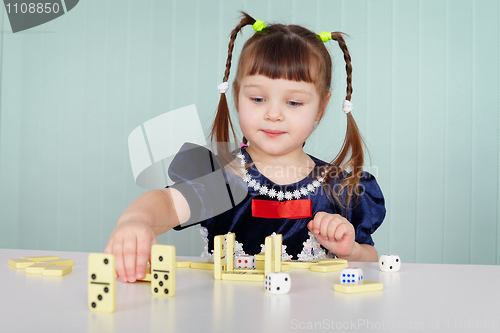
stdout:
POLYGON ((269 36, 254 43, 242 54, 240 64, 246 75, 264 75, 270 79, 286 79, 315 83, 321 72, 318 55, 300 38, 293 35, 269 36))

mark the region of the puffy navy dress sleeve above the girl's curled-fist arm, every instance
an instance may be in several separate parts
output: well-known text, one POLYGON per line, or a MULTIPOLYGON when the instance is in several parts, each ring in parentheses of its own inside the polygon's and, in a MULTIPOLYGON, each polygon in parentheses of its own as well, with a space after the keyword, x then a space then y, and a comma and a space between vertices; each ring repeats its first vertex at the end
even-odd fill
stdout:
POLYGON ((356 230, 356 242, 373 246, 372 234, 385 218, 384 195, 375 177, 368 172, 363 172, 356 193, 346 218, 356 230))

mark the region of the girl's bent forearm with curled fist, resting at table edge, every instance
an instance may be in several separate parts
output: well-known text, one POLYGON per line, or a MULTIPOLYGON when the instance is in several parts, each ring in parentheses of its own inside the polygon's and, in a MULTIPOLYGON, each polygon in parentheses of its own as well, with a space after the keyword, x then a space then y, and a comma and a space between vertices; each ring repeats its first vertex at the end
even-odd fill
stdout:
POLYGON ((318 242, 339 258, 349 261, 378 261, 377 250, 355 241, 353 225, 338 214, 318 212, 307 227, 318 242))

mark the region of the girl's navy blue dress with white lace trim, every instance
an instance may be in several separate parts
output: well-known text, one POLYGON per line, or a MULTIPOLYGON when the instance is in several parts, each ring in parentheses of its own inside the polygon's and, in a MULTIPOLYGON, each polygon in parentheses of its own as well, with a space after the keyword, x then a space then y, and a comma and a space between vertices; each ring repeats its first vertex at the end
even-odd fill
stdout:
MULTIPOLYGON (((241 148, 241 153, 244 154, 247 163, 252 163, 245 147, 241 148)), ((317 167, 327 164, 313 156, 310 158, 317 167)), ((351 199, 349 210, 346 211, 332 200, 331 196, 329 198, 321 185, 316 187, 313 193, 303 194, 300 197, 311 200, 312 217, 296 219, 252 216, 252 199, 274 201, 278 199, 249 187, 241 175, 229 172, 227 168, 221 168, 216 156, 204 147, 186 143, 175 156, 168 173, 175 183, 171 187, 183 194, 191 209, 189 221, 174 229, 181 230, 194 224, 201 224, 208 232, 209 252, 213 249, 214 236, 233 232, 244 253, 257 254, 261 252, 264 239, 276 233, 283 235, 285 252, 292 256, 291 259, 311 259, 311 256, 304 256, 304 253, 311 253, 313 250, 317 253, 318 249, 310 247, 319 247, 319 243, 307 229, 307 224, 317 212, 342 215, 354 226, 356 242, 369 245, 374 245, 371 235, 380 226, 386 213, 382 191, 375 178, 367 172, 362 174, 358 195, 351 199)), ((283 191, 283 193, 311 188, 310 184, 317 180, 319 175, 317 168, 314 168, 299 182, 278 185, 263 176, 254 165, 248 168, 248 174, 255 180, 254 183, 265 186, 268 190, 275 189, 276 192, 283 191)), ((332 180, 330 183, 332 188, 336 188, 336 184, 338 180, 332 180)), ((341 195, 340 199, 342 201, 345 197, 341 195)), ((324 254, 332 255, 326 253, 324 249, 320 250, 324 254)))

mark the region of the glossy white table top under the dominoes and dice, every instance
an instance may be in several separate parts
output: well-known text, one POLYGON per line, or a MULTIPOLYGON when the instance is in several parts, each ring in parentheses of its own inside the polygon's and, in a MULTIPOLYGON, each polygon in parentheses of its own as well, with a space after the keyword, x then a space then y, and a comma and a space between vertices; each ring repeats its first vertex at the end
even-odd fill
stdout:
MULTIPOLYGON (((292 269, 292 289, 269 295, 260 282, 217 281, 213 271, 176 270, 176 295, 117 281, 116 311, 87 308, 88 253, 0 250, 0 332, 500 331, 500 266, 405 264, 384 273, 350 263, 384 290, 333 291, 339 273, 292 269), (44 254, 74 259, 63 277, 26 274, 8 259, 44 254)), ((188 258, 196 259, 200 258, 188 258)))

